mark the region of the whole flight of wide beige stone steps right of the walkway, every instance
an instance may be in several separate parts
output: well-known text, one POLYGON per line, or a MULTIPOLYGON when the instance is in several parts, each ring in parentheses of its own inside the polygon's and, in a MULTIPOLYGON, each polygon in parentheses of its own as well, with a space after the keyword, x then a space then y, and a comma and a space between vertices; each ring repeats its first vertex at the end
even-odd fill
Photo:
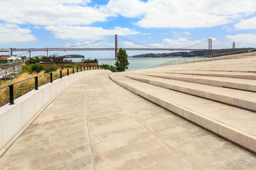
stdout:
POLYGON ((109 78, 256 153, 256 73, 145 69, 112 73, 109 78))

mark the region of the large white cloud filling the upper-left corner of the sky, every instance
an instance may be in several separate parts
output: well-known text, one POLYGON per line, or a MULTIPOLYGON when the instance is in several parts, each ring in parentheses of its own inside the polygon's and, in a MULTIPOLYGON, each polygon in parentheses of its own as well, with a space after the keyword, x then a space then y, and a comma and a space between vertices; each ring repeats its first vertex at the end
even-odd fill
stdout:
POLYGON ((82 25, 106 21, 110 13, 87 4, 90 0, 0 1, 0 20, 15 24, 82 25))

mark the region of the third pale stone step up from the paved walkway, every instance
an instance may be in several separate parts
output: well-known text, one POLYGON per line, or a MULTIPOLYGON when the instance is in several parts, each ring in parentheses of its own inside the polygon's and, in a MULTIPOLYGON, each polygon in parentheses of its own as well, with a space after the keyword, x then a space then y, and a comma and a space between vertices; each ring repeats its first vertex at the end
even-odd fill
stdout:
POLYGON ((144 73, 144 75, 256 92, 256 80, 174 73, 144 73))

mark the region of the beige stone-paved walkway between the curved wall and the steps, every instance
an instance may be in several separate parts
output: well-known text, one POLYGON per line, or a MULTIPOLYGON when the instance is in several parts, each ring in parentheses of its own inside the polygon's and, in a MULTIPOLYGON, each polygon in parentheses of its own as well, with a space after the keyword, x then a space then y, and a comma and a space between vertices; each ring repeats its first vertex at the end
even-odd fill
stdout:
POLYGON ((0 169, 255 169, 256 156, 95 74, 61 94, 0 169))

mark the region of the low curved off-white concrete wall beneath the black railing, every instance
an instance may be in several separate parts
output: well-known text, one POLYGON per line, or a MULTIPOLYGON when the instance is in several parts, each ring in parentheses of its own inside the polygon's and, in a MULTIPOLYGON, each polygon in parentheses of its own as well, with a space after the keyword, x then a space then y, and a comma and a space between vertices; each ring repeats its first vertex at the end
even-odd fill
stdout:
POLYGON ((15 99, 13 105, 2 106, 0 108, 0 157, 63 90, 86 76, 106 72, 109 71, 92 70, 70 74, 15 99))

